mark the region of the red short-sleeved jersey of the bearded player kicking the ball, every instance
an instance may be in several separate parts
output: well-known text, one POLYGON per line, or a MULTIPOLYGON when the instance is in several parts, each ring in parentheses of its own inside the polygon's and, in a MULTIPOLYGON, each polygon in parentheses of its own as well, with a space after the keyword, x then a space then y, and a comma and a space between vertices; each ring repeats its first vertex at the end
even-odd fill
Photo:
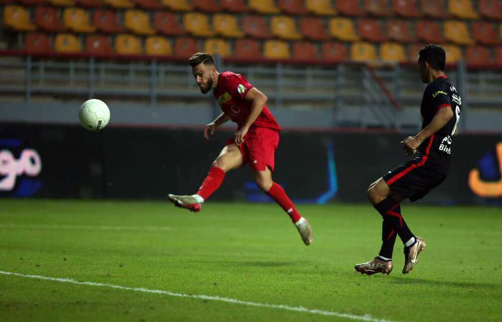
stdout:
MULTIPOLYGON (((237 123, 240 129, 247 120, 251 111, 252 102, 244 99, 247 91, 253 88, 244 76, 226 71, 218 75, 218 87, 213 89, 214 97, 220 105, 221 111, 230 117, 230 120, 237 123)), ((252 126, 268 128, 274 131, 281 131, 281 127, 272 116, 267 105, 258 116, 252 126)))

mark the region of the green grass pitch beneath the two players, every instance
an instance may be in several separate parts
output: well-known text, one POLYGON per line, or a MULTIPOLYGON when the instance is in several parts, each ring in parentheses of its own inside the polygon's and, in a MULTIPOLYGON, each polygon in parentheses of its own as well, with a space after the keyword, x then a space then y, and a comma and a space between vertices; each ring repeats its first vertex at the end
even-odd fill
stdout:
POLYGON ((0 199, 0 320, 502 318, 502 208, 403 203, 427 247, 403 275, 398 239, 389 276, 353 270, 380 250, 369 203, 297 208, 308 247, 273 203, 0 199))

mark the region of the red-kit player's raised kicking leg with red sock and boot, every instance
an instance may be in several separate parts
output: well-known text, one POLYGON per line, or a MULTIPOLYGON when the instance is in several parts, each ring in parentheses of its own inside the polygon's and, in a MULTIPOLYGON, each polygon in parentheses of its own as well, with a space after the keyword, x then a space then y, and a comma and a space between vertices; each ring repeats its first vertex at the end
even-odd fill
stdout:
POLYGON ((226 145, 211 164, 209 173, 202 182, 197 193, 193 195, 169 194, 169 199, 175 206, 197 212, 205 199, 207 199, 225 178, 225 173, 242 166, 242 154, 240 148, 235 143, 226 145))

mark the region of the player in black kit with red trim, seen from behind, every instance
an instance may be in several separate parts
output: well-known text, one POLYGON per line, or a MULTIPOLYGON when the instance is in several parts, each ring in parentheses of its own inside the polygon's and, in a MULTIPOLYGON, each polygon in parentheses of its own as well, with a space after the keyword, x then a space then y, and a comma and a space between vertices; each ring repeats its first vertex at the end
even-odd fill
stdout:
POLYGON ((445 60, 444 49, 438 45, 427 45, 419 52, 420 78, 428 84, 420 106, 422 131, 401 142, 406 155, 416 153, 416 157, 384 174, 368 188, 369 201, 384 219, 383 243, 379 255, 373 260, 354 266, 361 274, 389 274, 392 271, 396 235, 405 246, 403 274, 413 268, 420 251, 426 246, 424 240, 413 235, 406 225, 399 203, 406 198, 415 201, 424 197, 448 175, 451 142, 458 133, 462 101, 444 75, 445 60))

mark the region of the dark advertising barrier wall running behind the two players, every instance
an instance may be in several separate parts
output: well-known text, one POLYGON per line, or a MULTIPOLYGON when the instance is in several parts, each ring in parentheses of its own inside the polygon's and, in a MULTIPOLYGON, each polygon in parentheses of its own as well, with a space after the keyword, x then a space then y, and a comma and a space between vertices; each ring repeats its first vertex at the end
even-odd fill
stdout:
MULTIPOLYGON (((0 195, 165 199, 192 194, 233 130, 1 124, 0 195)), ((410 133, 412 135, 412 133, 410 133)), ((274 181, 295 202, 366 202, 370 183, 405 162, 389 132, 282 131, 274 181)), ((502 205, 502 135, 459 135, 446 181, 419 202, 502 205)), ((211 200, 271 201, 248 165, 227 173, 211 200)))

